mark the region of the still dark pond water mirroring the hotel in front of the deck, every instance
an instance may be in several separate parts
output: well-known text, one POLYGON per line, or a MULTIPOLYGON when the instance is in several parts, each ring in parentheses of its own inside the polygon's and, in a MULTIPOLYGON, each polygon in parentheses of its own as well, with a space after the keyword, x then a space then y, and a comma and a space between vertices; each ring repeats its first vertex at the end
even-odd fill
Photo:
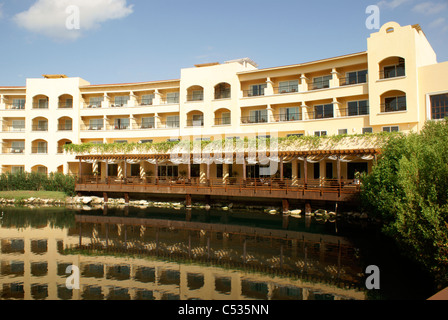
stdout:
POLYGON ((367 223, 257 211, 4 207, 0 298, 426 299, 431 279, 367 223), (368 265, 380 290, 365 288, 368 265), (79 290, 66 287, 79 267, 79 290))

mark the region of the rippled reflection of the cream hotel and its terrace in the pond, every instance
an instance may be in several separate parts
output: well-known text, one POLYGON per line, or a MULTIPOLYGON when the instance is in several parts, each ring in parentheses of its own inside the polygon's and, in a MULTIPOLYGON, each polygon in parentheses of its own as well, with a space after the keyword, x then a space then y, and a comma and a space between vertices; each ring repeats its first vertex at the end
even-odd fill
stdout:
POLYGON ((89 219, 77 217, 72 229, 1 229, 2 299, 365 298, 357 289, 361 279, 353 248, 340 237, 301 233, 300 239, 281 239, 263 235, 265 229, 250 236, 234 232, 235 226, 211 232, 151 226, 148 219, 136 219, 137 224, 132 218, 80 223, 81 218, 89 219), (63 254, 67 248, 74 254, 63 254), (141 255, 132 258, 135 253, 141 255), (191 263, 174 262, 177 258, 191 263), (80 290, 65 286, 72 264, 80 268, 80 290))

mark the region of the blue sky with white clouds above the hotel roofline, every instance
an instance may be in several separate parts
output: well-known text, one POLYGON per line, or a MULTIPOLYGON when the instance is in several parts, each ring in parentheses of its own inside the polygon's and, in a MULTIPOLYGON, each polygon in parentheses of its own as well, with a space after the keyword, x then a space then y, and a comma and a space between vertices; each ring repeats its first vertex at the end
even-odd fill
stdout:
POLYGON ((448 0, 0 0, 0 86, 43 74, 91 84, 179 79, 195 64, 259 68, 367 49, 380 24, 420 24, 448 61, 448 0))

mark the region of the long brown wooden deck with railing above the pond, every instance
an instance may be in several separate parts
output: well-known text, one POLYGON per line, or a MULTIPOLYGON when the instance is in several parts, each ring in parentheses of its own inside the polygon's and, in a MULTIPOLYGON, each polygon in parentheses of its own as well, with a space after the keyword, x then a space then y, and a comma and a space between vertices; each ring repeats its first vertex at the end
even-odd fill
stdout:
POLYGON ((200 180, 159 178, 108 178, 82 177, 76 192, 146 193, 173 195, 225 196, 245 198, 271 198, 296 200, 351 201, 359 193, 354 180, 303 180, 290 179, 223 179, 200 180))

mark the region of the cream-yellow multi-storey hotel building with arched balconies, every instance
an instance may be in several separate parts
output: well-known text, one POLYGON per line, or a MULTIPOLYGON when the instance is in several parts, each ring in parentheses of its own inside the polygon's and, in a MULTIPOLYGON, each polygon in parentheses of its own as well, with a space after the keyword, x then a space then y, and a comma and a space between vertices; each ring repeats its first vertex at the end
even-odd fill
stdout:
MULTIPOLYGON (((0 86, 0 168, 78 174, 76 155, 63 150, 70 143, 161 142, 195 139, 198 132, 212 140, 260 132, 418 132, 427 120, 448 115, 447 74, 448 62, 437 62, 419 25, 389 22, 370 35, 364 52, 295 65, 260 69, 244 58, 182 69, 179 79, 103 85, 45 75, 24 87, 0 86)), ((105 173, 105 165, 98 168, 101 177, 154 171, 150 163, 128 163, 105 173)), ((316 175, 310 166, 308 175, 334 176, 331 160, 319 168, 316 175)), ((343 164, 341 174, 349 178, 356 168, 343 164)), ((162 169, 157 174, 180 171, 162 169)), ((83 163, 82 170, 94 169, 83 163)), ((222 169, 210 170, 217 176, 222 169)), ((300 164, 292 170, 300 171, 300 164)))

